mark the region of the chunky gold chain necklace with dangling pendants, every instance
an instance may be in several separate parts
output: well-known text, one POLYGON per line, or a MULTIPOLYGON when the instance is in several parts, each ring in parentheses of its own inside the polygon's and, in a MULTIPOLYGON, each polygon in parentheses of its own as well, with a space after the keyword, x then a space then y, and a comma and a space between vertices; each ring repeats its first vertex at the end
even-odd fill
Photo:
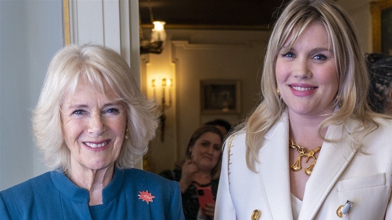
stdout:
POLYGON ((311 175, 311 174, 312 174, 312 171, 313 171, 313 168, 315 167, 316 162, 317 162, 317 158, 315 157, 315 154, 316 154, 317 152, 320 151, 321 146, 318 146, 318 147, 315 148, 314 150, 308 150, 308 149, 306 149, 306 148, 304 148, 304 147, 301 147, 300 145, 294 143, 292 140, 290 140, 290 141, 288 142, 288 146, 289 146, 290 148, 296 149, 296 150, 298 151, 298 153, 300 154, 299 157, 298 157, 298 159, 296 160, 296 162, 294 162, 294 163, 290 166, 290 167, 291 167, 291 170, 293 170, 293 171, 300 171, 300 170, 302 169, 302 167, 301 167, 301 160, 302 160, 302 157, 308 157, 308 158, 306 159, 306 161, 305 161, 306 163, 308 163, 308 161, 309 161, 310 158, 313 158, 313 159, 314 159, 313 163, 312 163, 310 166, 308 166, 307 168, 304 169, 304 171, 305 171, 306 174, 311 175))

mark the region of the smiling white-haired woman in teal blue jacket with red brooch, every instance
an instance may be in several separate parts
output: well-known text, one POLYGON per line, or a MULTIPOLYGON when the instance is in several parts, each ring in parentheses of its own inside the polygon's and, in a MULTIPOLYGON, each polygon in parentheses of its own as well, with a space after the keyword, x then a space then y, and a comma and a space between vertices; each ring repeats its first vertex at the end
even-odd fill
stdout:
POLYGON ((114 50, 71 45, 52 59, 33 114, 53 169, 2 191, 1 219, 182 219, 177 182, 133 169, 157 115, 114 50))

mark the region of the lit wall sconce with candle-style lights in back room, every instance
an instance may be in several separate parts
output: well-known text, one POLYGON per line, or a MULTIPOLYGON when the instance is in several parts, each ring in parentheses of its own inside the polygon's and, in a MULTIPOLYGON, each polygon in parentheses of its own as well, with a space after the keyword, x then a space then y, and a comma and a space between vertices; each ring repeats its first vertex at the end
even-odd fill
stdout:
MULTIPOLYGON (((153 95, 154 95, 154 99, 156 100, 156 80, 153 79, 151 81, 151 86, 153 89, 153 95)), ((161 102, 159 104, 159 108, 161 109, 161 117, 160 117, 160 130, 161 130, 161 142, 164 141, 164 136, 165 136, 165 121, 166 121, 166 117, 165 117, 165 109, 168 109, 169 107, 171 107, 171 88, 173 87, 173 82, 172 79, 166 79, 163 78, 162 82, 161 82, 161 86, 162 86, 162 98, 161 98, 161 102), (169 97, 168 97, 168 103, 166 103, 166 88, 168 89, 169 92, 169 97)))

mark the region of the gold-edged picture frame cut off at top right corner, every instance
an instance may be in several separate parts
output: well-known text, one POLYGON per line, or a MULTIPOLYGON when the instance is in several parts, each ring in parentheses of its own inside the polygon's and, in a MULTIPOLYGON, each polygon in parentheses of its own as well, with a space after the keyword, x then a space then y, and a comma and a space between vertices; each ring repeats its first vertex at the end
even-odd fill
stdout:
POLYGON ((373 53, 392 55, 392 0, 370 2, 373 53))

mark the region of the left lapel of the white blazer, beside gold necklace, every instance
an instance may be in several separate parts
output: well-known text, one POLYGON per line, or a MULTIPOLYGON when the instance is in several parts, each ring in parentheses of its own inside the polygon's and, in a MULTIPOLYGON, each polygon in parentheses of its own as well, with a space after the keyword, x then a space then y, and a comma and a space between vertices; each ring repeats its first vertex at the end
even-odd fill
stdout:
POLYGON ((288 173, 288 116, 270 129, 259 151, 259 174, 271 219, 292 219, 288 173))

